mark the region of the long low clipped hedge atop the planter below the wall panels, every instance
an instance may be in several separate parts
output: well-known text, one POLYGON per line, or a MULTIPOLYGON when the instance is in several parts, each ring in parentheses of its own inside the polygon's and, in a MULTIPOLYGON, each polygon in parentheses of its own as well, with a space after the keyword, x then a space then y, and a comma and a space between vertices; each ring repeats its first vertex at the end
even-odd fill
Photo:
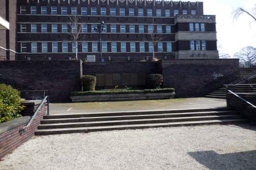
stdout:
POLYGON ((138 94, 138 93, 170 93, 174 88, 145 89, 145 90, 95 90, 95 91, 73 91, 71 95, 97 95, 97 94, 138 94))

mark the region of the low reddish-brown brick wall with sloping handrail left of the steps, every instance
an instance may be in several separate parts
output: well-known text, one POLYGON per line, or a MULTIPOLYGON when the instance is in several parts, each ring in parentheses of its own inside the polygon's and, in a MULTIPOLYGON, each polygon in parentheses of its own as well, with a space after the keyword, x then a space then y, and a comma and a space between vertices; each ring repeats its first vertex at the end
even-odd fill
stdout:
MULTIPOLYGON (((34 105, 31 107, 37 107, 38 105, 34 105)), ((31 108, 28 107, 28 108, 31 108)), ((26 111, 25 111, 26 112, 26 111)), ((30 112, 31 115, 34 114, 34 112, 30 112)), ((6 128, 10 126, 10 124, 13 124, 13 122, 16 123, 16 126, 12 126, 12 129, 9 129, 8 131, 5 131, 1 133, 0 131, 0 159, 3 158, 6 154, 10 153, 11 151, 15 150, 17 147, 22 145, 24 142, 26 142, 28 139, 30 139, 35 131, 37 130, 37 126, 40 124, 40 120, 44 115, 47 114, 47 106, 44 104, 42 105, 41 109, 39 110, 38 114, 36 115, 35 119, 33 120, 30 127, 27 128, 27 132, 20 133, 20 131, 25 127, 29 120, 30 116, 24 116, 20 118, 16 118, 10 122, 6 122, 3 124, 0 124, 0 130, 2 128, 6 128)))

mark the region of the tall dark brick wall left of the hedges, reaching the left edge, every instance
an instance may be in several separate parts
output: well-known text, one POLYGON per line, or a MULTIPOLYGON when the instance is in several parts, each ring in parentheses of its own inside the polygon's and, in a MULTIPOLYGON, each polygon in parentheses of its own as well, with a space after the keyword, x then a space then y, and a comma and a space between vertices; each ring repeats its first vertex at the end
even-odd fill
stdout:
POLYGON ((80 90, 80 61, 1 61, 0 83, 18 90, 49 90, 51 102, 69 101, 80 90))

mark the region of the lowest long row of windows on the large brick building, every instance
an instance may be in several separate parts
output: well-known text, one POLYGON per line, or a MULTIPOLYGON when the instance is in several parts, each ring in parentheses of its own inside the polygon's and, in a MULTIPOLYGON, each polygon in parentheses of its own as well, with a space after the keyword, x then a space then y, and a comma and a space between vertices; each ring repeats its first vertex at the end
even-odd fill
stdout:
MULTIPOLYGON (((90 42, 82 42, 82 52, 88 53, 88 43, 90 42)), ((98 52, 98 42, 91 42, 92 43, 92 50, 91 52, 97 53, 98 52)), ((111 52, 116 53, 117 52, 117 43, 119 42, 111 42, 111 52)), ((120 42, 120 52, 125 53, 127 52, 126 45, 128 42, 120 42)), ((129 42, 130 43, 130 51, 132 53, 136 52, 136 43, 135 42, 129 42)), ((153 52, 153 43, 148 43, 148 52, 153 52)), ((58 53, 58 42, 51 42, 52 45, 52 53, 58 53)), ((72 53, 76 52, 76 43, 72 43, 72 53)), ((108 43, 107 42, 101 42, 101 51, 103 53, 108 52, 108 43)), ((22 42, 20 43, 20 52, 27 53, 27 43, 22 42)), ((37 42, 31 42, 31 52, 37 53, 37 42)), ((48 53, 48 42, 41 42, 41 52, 42 53, 48 53)), ((68 53, 68 42, 62 42, 62 53, 68 53)), ((144 53, 145 52, 145 42, 139 42, 139 52, 144 53)), ((157 52, 163 52, 163 42, 157 42, 157 52)), ((166 42, 166 52, 172 52, 172 42, 166 42)))

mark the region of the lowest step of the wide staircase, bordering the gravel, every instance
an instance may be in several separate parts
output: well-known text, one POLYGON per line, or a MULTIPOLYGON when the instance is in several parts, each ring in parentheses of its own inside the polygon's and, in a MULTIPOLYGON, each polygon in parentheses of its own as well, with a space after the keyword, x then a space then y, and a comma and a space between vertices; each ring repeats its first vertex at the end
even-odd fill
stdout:
POLYGON ((239 124, 239 123, 247 123, 247 122, 248 122, 247 119, 239 118, 239 119, 173 122, 173 123, 160 123, 160 124, 136 124, 136 125, 116 125, 116 126, 98 126, 98 127, 81 127, 81 128, 41 129, 41 130, 36 130, 35 135, 53 135, 53 134, 82 133, 82 132, 87 133, 87 132, 95 132, 95 131, 145 129, 145 128, 177 127, 177 126, 197 126, 197 125, 212 125, 212 124, 239 124))

